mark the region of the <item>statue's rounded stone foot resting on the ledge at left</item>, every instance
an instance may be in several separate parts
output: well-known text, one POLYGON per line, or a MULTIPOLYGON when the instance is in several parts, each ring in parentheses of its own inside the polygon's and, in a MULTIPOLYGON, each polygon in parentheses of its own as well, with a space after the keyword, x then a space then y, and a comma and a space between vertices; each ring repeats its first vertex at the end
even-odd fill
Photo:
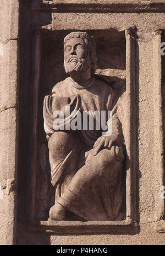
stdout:
POLYGON ((50 208, 50 218, 54 221, 64 221, 65 220, 65 208, 59 203, 56 203, 50 208))

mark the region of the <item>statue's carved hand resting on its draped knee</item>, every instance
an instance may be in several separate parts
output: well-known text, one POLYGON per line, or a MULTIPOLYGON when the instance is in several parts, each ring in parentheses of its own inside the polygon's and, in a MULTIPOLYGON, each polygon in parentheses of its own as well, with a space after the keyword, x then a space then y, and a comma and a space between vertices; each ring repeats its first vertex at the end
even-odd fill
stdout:
POLYGON ((116 134, 110 136, 101 136, 94 144, 94 155, 97 155, 102 149, 111 149, 112 146, 121 146, 119 138, 116 134))

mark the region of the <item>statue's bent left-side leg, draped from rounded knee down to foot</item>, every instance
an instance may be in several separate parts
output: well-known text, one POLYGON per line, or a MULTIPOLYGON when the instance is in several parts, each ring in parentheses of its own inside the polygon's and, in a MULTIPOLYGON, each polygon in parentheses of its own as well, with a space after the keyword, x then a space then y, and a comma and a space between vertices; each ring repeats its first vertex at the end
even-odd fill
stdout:
MULTIPOLYGON (((72 177, 78 169, 78 151, 76 150, 76 136, 67 132, 55 132, 49 142, 52 185, 56 185, 56 201, 69 185, 72 177)), ((50 209, 52 219, 65 219, 65 208, 55 205, 50 209)))

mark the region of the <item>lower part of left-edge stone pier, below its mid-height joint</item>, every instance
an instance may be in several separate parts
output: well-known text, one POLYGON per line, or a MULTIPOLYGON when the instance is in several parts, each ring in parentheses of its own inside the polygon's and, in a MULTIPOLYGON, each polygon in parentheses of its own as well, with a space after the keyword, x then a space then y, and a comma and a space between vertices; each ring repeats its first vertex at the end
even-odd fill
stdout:
POLYGON ((17 168, 17 111, 9 108, 0 113, 0 199, 1 244, 13 244, 15 225, 15 169, 17 168))

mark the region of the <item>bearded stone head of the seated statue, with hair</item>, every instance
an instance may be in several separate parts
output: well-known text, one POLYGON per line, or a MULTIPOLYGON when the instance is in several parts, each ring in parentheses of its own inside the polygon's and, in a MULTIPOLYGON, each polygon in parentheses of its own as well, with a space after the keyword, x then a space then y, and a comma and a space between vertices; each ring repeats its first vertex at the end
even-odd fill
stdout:
POLYGON ((86 32, 72 32, 64 38, 64 69, 67 74, 96 70, 95 40, 86 32))

